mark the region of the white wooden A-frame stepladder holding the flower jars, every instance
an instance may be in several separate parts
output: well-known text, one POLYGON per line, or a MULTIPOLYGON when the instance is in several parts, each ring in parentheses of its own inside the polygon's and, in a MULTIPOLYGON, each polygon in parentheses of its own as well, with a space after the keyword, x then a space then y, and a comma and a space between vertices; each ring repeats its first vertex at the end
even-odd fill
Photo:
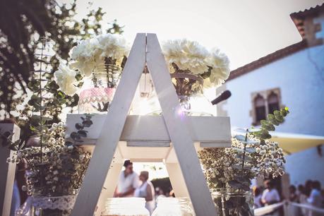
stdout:
MULTIPOLYGON (((120 83, 116 89, 114 100, 109 108, 109 112, 103 118, 104 120, 102 120, 100 125, 101 132, 95 140, 95 150, 73 208, 73 216, 92 216, 101 197, 103 186, 106 188, 107 186, 110 187, 109 193, 112 193, 121 170, 121 162, 117 166, 111 166, 114 157, 116 157, 115 152, 120 151, 119 145, 121 144, 119 143, 121 143, 121 140, 129 140, 128 137, 133 136, 125 131, 137 130, 139 131, 138 133, 142 133, 143 131, 140 131, 136 124, 137 126, 145 126, 147 124, 145 128, 148 128, 149 131, 150 125, 148 124, 151 123, 150 121, 157 122, 153 128, 158 128, 159 126, 166 128, 167 134, 165 136, 167 136, 167 142, 172 143, 172 148, 179 161, 179 166, 174 169, 172 166, 175 164, 169 164, 170 169, 168 170, 174 171, 174 173, 170 174, 170 179, 173 176, 173 179, 171 179, 172 184, 185 184, 196 215, 212 216, 217 214, 194 146, 196 140, 193 140, 191 134, 191 131, 195 129, 195 126, 191 124, 193 119, 187 118, 181 112, 179 100, 169 75, 169 69, 155 34, 139 33, 136 35, 126 66, 121 75, 120 83), (148 116, 143 116, 143 118, 128 116, 133 96, 145 66, 148 66, 152 76, 162 108, 162 117, 151 116, 151 119, 145 119, 148 116), (130 125, 133 127, 130 127, 130 125), (174 178, 179 173, 178 181, 178 179, 174 178), (109 185, 109 183, 111 184, 109 185)), ((228 146, 230 145, 229 119, 225 120, 226 124, 223 124, 223 126, 228 131, 225 134, 226 145, 228 146)), ((150 136, 150 133, 147 133, 147 136, 150 136)), ((164 131, 161 131, 161 133, 161 136, 164 136, 164 131)), ((157 136, 160 135, 157 134, 157 136)), ((145 134, 143 137, 145 137, 145 134)), ((154 157, 154 155, 151 157, 154 157)), ((98 206, 102 206, 100 202, 98 206)))

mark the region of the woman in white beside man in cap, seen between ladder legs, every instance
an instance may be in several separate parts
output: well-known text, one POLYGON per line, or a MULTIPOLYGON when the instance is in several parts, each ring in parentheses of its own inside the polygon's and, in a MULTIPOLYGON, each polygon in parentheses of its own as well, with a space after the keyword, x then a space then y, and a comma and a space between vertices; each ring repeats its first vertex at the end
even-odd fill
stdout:
POLYGON ((136 188, 134 196, 145 198, 145 208, 152 214, 155 209, 155 191, 152 183, 148 181, 147 171, 140 172, 140 181, 142 181, 142 184, 136 188))

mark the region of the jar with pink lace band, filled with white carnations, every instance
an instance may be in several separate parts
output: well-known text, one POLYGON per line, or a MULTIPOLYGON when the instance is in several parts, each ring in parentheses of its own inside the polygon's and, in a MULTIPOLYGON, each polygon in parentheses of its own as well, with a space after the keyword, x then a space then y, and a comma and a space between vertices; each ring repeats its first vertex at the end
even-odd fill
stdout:
POLYGON ((71 49, 72 61, 68 66, 56 71, 56 82, 66 83, 68 92, 80 88, 80 113, 107 112, 128 52, 126 40, 121 35, 105 34, 81 40, 71 49), (72 80, 67 82, 66 77, 72 80))

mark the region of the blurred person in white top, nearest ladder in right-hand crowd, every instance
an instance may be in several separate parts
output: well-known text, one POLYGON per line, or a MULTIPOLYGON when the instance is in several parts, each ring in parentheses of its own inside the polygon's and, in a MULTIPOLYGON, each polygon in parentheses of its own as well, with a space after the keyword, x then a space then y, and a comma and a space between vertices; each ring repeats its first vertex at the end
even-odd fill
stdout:
MULTIPOLYGON (((264 184, 265 184, 265 190, 263 191, 261 196, 261 203, 263 203, 263 205, 272 205, 275 203, 279 203, 280 196, 277 189, 273 185, 273 182, 270 180, 266 180, 264 184)), ((270 215, 277 216, 279 215, 279 211, 274 210, 273 212, 270 213, 270 215)))

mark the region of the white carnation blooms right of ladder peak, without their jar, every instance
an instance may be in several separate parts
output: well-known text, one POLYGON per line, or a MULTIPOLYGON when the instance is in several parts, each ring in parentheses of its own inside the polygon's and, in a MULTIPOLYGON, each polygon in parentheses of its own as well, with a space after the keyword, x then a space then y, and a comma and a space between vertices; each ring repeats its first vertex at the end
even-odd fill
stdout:
MULTIPOLYGON (((168 40, 162 45, 162 52, 169 64, 170 73, 196 76, 196 80, 190 80, 190 76, 188 76, 189 80, 184 80, 173 74, 172 77, 176 77, 174 85, 178 85, 179 90, 181 88, 193 90, 192 86, 199 85, 199 82, 203 83, 204 88, 217 87, 229 77, 229 59, 219 49, 209 52, 198 42, 184 39, 168 40)), ((183 92, 186 91, 183 90, 183 92)), ((190 93, 187 92, 187 94, 190 93)))

